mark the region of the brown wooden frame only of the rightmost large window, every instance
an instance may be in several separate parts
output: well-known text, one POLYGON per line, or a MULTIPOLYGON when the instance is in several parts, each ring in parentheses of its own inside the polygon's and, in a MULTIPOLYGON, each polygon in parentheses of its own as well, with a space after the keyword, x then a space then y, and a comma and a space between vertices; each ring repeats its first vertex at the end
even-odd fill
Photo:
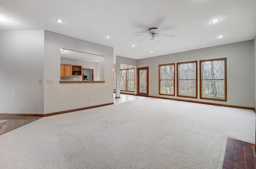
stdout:
POLYGON ((220 58, 220 59, 207 59, 207 60, 200 60, 200 99, 205 100, 216 100, 216 101, 227 101, 227 58, 220 58), (207 98, 203 97, 202 94, 202 81, 203 80, 212 80, 212 79, 202 79, 202 63, 203 62, 211 62, 211 61, 224 61, 224 79, 218 79, 218 80, 224 80, 224 99, 220 98, 207 98))

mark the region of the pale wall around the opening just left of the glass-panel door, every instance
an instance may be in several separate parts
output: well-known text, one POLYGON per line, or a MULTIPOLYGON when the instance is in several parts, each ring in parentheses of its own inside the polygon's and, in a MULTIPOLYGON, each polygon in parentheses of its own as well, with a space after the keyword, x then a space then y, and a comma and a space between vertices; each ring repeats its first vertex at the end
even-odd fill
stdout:
MULTIPOLYGON (((116 97, 120 96, 120 65, 125 64, 125 65, 134 65, 135 66, 135 79, 137 79, 137 60, 136 59, 130 59, 127 57, 121 57, 121 56, 116 56, 116 97)), ((128 93, 134 93, 137 94, 137 81, 135 80, 135 92, 128 92, 128 93)))

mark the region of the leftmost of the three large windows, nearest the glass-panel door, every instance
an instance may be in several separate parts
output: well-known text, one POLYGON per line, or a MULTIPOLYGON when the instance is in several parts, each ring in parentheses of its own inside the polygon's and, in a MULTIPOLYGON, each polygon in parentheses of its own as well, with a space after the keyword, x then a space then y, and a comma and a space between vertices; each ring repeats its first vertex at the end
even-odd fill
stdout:
POLYGON ((174 96, 175 63, 159 65, 159 94, 174 96))

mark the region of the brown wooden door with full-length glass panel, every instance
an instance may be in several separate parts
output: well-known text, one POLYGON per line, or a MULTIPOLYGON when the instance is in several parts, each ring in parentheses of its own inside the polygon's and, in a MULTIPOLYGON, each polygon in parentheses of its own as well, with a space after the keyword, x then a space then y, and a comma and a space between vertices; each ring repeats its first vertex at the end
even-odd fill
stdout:
POLYGON ((138 95, 148 96, 148 67, 138 68, 138 95))

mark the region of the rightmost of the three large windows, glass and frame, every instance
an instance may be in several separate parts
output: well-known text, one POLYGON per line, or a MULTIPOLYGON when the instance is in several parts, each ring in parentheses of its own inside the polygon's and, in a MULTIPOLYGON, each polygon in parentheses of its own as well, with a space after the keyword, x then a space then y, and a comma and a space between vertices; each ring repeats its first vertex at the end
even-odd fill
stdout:
POLYGON ((200 98, 227 101, 226 58, 200 61, 200 98))

